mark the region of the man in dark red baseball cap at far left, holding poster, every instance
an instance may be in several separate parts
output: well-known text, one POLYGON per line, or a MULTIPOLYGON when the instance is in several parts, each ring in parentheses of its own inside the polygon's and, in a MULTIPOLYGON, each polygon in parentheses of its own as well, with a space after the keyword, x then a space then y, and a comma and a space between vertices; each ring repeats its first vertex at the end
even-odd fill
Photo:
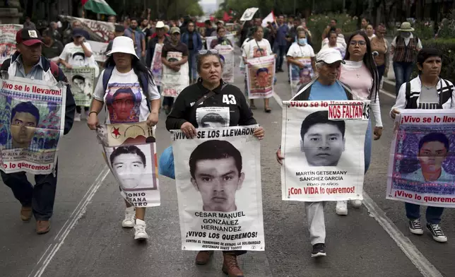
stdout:
MULTIPOLYGON (((32 28, 23 28, 16 33, 16 47, 18 52, 11 59, 6 59, 1 65, 1 71, 8 71, 9 76, 42 80, 57 84, 58 81, 68 83, 63 71, 57 64, 41 55, 42 41, 40 33, 32 28)), ((73 126, 76 104, 70 87, 66 84, 66 110, 64 134, 68 134, 73 126)), ((42 106, 42 103, 34 103, 42 106)), ((22 208, 20 218, 29 221, 32 216, 36 219, 37 234, 45 234, 50 230, 49 219, 52 216, 57 187, 57 163, 55 174, 35 175, 35 186, 28 182, 25 172, 6 174, 0 172, 3 182, 11 188, 14 196, 22 208)))

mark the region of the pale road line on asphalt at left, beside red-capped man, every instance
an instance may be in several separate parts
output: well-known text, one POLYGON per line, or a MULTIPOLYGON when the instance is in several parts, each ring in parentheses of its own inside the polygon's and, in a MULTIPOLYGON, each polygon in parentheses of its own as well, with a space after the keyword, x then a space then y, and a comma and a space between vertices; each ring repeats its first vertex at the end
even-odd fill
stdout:
POLYGON ((35 267, 32 269, 32 272, 28 275, 28 277, 42 276, 42 273, 45 272, 47 265, 49 265, 49 262, 59 251, 61 245, 64 243, 71 229, 73 229, 73 227, 78 223, 79 218, 81 218, 81 216, 83 216, 85 213, 88 204, 90 204, 90 201, 92 201, 96 191, 100 189, 101 184, 106 179, 109 171, 110 170, 107 165, 102 169, 98 177, 96 177, 95 182, 90 185, 87 192, 79 202, 78 206, 76 206, 73 213, 71 213, 71 216, 69 216, 65 224, 61 227, 57 235, 54 237, 54 241, 49 244, 49 247, 47 247, 45 253, 42 254, 40 260, 37 262, 37 264, 35 264, 35 267))

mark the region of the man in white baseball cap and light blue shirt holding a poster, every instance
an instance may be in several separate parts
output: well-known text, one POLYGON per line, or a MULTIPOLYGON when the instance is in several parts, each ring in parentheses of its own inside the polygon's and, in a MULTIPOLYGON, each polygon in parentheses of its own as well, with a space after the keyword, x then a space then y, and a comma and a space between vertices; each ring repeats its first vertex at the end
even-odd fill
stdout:
MULTIPOLYGON (((316 69, 319 76, 299 88, 291 100, 353 100, 348 86, 337 80, 341 64, 344 64, 340 52, 333 48, 323 49, 316 56, 316 69)), ((276 160, 283 163, 281 146, 276 151, 276 160)), ((312 244, 312 257, 326 256, 326 225, 324 222, 324 206, 326 202, 305 202, 309 237, 312 244)))

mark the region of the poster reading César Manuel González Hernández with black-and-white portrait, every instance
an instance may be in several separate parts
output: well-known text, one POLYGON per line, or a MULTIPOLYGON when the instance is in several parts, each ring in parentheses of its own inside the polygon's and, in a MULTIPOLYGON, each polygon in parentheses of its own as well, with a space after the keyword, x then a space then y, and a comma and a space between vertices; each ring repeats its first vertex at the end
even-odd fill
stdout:
POLYGON ((173 131, 183 250, 264 251, 256 126, 173 131))

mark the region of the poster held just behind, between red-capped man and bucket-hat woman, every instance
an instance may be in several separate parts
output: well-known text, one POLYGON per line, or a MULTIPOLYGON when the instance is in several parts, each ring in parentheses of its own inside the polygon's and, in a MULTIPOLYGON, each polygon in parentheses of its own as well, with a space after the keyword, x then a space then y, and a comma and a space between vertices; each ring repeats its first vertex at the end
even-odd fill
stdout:
POLYGON ((64 69, 66 78, 71 85, 76 105, 90 107, 93 90, 95 89, 95 69, 91 67, 74 67, 64 69))

